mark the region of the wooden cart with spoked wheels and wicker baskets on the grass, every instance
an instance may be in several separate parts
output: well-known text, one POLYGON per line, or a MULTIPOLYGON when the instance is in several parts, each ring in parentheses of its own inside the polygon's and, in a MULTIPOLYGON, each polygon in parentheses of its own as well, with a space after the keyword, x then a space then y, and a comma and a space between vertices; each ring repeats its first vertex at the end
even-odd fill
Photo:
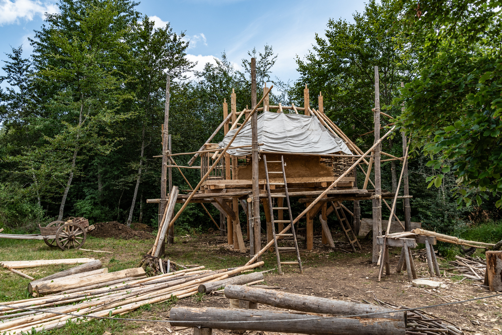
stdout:
POLYGON ((41 234, 0 234, 0 238, 21 240, 44 240, 49 247, 61 250, 80 249, 87 239, 87 233, 94 229, 89 220, 83 217, 70 217, 68 221, 52 221, 46 227, 40 227, 41 234))

